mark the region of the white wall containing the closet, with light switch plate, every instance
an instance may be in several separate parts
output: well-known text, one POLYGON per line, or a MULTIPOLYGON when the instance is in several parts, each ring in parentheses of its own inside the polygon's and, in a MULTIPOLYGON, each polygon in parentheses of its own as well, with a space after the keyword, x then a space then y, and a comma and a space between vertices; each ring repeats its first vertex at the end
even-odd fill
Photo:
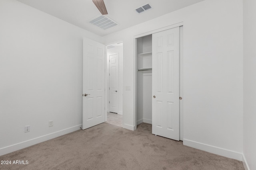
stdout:
POLYGON ((242 0, 205 0, 107 35, 124 41, 124 127, 134 129, 134 36, 184 23, 184 145, 242 160, 242 0))

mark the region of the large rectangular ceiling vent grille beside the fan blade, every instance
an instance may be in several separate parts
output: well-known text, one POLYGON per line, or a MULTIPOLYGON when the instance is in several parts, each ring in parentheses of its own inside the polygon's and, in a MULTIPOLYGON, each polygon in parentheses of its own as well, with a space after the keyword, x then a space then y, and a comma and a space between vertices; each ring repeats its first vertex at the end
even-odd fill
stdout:
POLYGON ((104 30, 117 25, 117 23, 115 21, 110 20, 109 18, 106 18, 105 16, 99 16, 89 22, 92 23, 93 25, 96 25, 97 27, 100 27, 101 29, 104 29, 104 30))

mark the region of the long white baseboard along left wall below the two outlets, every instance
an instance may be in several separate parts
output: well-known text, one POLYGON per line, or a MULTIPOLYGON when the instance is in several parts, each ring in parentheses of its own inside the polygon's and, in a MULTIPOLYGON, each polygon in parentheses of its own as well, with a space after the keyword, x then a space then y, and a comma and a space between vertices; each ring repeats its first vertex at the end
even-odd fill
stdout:
POLYGON ((8 147, 1 148, 0 149, 0 156, 4 155, 4 154, 8 154, 10 152, 14 152, 16 150, 20 150, 20 149, 23 149, 23 148, 26 148, 26 147, 30 147, 32 145, 36 145, 36 144, 44 142, 44 141, 48 141, 50 139, 65 135, 67 133, 77 131, 77 130, 80 129, 80 127, 82 127, 82 125, 77 125, 77 126, 70 127, 70 128, 67 128, 67 129, 63 129, 61 131, 50 133, 50 134, 47 134, 47 135, 44 135, 44 136, 41 136, 41 137, 30 139, 28 141, 24 141, 24 142, 21 142, 21 143, 10 145, 8 147))

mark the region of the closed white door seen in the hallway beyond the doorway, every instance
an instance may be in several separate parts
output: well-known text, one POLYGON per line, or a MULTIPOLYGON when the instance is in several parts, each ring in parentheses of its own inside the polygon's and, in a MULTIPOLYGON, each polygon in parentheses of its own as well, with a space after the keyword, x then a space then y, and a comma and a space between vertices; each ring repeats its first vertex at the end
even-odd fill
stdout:
POLYGON ((109 55, 109 111, 118 113, 118 53, 109 55))

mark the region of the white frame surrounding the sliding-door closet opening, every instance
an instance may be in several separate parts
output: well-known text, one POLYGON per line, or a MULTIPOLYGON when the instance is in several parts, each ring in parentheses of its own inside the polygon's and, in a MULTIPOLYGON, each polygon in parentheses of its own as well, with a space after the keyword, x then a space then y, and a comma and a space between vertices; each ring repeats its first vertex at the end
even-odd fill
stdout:
MULTIPOLYGON (((145 33, 142 33, 142 34, 139 34, 139 35, 135 35, 134 36, 134 108, 133 108, 133 118, 134 118, 134 130, 137 129, 137 111, 136 111, 136 105, 137 105, 137 38, 140 38, 140 37, 144 37, 146 35, 150 35, 150 34, 153 34, 153 33, 157 33, 157 32, 160 32, 160 31, 165 31, 167 29, 172 29, 172 28, 175 28, 175 27, 181 27, 183 26, 183 22, 180 22, 180 23, 176 23, 176 24, 173 24, 173 25, 169 25, 167 27, 162 27, 162 28, 159 28, 159 29, 155 29, 155 30, 152 30, 152 31, 148 31, 148 32, 145 32, 145 33)), ((181 33, 180 33, 181 35, 181 33)), ((180 36, 180 45, 182 47, 180 47, 180 96, 183 95, 183 28, 182 28, 182 35, 180 36), (181 39, 182 38, 182 39, 181 39), (182 50, 182 51, 181 51, 182 50)), ((181 96, 183 98, 183 96, 181 96)), ((180 140, 183 141, 183 100, 180 100, 180 140), (182 139, 181 139, 182 138, 182 139)))

